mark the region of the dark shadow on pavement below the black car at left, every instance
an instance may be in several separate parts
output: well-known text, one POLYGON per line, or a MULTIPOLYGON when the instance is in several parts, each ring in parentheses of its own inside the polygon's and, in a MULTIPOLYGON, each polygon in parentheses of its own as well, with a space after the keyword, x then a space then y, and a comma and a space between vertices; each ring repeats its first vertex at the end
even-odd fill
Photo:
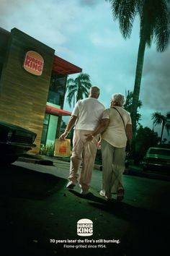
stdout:
POLYGON ((0 194, 42 200, 63 187, 65 180, 19 166, 1 170, 0 194))

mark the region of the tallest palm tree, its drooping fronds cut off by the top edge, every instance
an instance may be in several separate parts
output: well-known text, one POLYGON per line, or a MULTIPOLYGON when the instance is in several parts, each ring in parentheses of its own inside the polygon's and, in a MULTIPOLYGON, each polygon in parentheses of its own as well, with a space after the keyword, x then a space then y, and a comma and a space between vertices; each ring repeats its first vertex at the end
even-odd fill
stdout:
POLYGON ((105 0, 111 4, 112 15, 119 21, 123 38, 130 38, 135 16, 140 17, 140 43, 135 72, 131 117, 135 137, 140 82, 146 46, 155 38, 157 51, 164 51, 169 43, 170 0, 105 0))

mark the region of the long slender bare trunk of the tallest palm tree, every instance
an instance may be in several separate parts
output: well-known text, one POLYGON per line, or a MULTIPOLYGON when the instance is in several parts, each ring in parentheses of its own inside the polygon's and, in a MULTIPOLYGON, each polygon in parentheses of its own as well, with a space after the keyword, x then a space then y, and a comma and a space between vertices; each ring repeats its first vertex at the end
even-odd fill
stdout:
POLYGON ((133 103, 130 111, 132 124, 133 124, 133 138, 135 138, 135 132, 136 132, 137 108, 138 108, 139 93, 140 93, 140 83, 141 83, 142 72, 143 72, 143 61, 144 61, 145 49, 146 49, 146 40, 144 39, 144 37, 141 36, 139 48, 138 48, 138 59, 137 59, 136 72, 135 72, 133 103))

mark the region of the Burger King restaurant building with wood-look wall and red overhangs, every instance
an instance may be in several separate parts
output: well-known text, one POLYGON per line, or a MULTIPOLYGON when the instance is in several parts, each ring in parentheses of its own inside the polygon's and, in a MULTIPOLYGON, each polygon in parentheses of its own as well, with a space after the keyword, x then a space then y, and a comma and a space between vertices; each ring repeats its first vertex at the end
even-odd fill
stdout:
POLYGON ((13 28, 0 28, 0 120, 37 133, 32 153, 59 136, 66 82, 82 72, 55 50, 13 28))

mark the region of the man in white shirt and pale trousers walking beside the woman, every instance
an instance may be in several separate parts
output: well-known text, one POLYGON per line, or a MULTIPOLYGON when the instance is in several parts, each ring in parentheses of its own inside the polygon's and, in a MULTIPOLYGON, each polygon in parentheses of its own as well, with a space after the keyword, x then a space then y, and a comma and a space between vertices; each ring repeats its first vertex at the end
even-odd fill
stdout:
POLYGON ((70 174, 68 176, 69 181, 66 187, 68 189, 73 189, 73 187, 75 187, 79 178, 79 166, 83 161, 79 179, 81 194, 83 195, 89 193, 89 184, 91 182, 91 174, 94 168, 99 140, 99 135, 97 135, 93 137, 91 141, 86 141, 85 135, 97 128, 105 109, 104 105, 97 100, 97 98, 99 98, 99 93, 99 88, 93 86, 89 90, 89 98, 80 100, 76 103, 66 130, 60 137, 61 140, 65 140, 75 124, 70 174))

